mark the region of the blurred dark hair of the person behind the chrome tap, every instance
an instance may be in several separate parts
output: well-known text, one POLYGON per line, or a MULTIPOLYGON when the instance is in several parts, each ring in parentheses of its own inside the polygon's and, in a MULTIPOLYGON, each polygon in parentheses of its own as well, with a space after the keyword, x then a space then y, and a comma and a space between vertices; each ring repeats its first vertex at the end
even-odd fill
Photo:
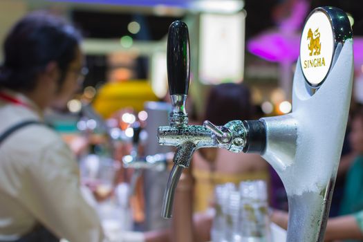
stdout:
POLYGON ((250 97, 250 90, 245 84, 213 86, 207 98, 205 120, 216 125, 224 125, 232 120, 251 120, 254 111, 250 97))

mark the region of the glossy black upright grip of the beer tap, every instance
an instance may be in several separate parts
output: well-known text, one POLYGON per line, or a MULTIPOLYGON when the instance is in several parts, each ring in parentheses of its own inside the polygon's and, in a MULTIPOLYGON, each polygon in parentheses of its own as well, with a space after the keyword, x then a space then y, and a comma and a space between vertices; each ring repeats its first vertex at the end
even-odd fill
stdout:
POLYGON ((170 95, 187 95, 189 89, 189 33, 187 24, 174 21, 167 38, 167 79, 170 95))

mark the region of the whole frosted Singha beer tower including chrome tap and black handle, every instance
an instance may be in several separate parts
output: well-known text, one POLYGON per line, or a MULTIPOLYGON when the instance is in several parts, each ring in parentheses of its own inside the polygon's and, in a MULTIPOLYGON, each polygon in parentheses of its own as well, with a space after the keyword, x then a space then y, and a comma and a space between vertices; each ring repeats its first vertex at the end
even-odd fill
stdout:
POLYGON ((324 240, 353 84, 353 39, 345 12, 333 7, 313 10, 300 45, 292 113, 253 121, 234 120, 222 127, 208 121, 204 126, 188 125, 188 30, 181 21, 171 24, 167 73, 173 109, 170 126, 158 129, 158 142, 176 146, 177 151, 162 216, 171 217, 180 174, 189 167, 196 149, 257 152, 277 171, 288 194, 287 241, 324 240))

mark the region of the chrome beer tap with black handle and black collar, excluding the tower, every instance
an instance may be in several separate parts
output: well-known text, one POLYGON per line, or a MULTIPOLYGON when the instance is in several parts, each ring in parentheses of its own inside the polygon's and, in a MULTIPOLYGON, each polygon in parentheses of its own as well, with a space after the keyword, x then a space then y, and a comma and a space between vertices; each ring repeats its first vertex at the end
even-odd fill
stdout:
POLYGON ((265 140, 263 122, 259 120, 243 122, 235 120, 223 127, 216 127, 208 121, 205 121, 204 126, 188 125, 185 101, 189 88, 189 62, 187 25, 182 21, 174 21, 169 27, 167 41, 167 74, 172 104, 169 114, 170 126, 158 129, 160 145, 177 147, 162 205, 162 216, 165 218, 171 217, 176 185, 183 169, 189 167, 196 149, 219 147, 234 152, 262 151, 265 140))

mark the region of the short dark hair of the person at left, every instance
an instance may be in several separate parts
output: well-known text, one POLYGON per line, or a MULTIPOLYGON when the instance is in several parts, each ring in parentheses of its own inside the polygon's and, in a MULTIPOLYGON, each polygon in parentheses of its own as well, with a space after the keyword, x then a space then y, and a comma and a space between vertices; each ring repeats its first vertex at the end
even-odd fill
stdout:
POLYGON ((62 84, 80 39, 80 33, 60 17, 46 12, 26 15, 10 30, 3 44, 0 87, 31 91, 37 75, 49 62, 57 63, 61 71, 59 85, 62 84))

